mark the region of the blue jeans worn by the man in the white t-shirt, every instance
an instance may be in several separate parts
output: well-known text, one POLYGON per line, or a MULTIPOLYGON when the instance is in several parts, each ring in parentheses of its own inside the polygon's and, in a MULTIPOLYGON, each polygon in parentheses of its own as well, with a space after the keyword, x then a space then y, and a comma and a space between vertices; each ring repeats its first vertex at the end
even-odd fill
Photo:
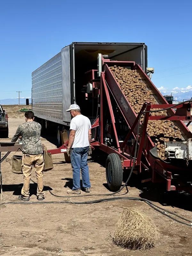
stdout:
POLYGON ((71 166, 73 168, 73 190, 80 189, 80 169, 83 187, 91 188, 89 180, 89 167, 87 164, 89 147, 72 148, 71 151, 71 166))

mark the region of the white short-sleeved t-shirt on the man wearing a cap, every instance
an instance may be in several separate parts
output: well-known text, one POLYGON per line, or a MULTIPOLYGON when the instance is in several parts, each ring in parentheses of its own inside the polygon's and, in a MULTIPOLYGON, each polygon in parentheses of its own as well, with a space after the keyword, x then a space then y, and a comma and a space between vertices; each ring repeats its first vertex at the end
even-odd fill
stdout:
POLYGON ((91 122, 88 117, 83 115, 73 117, 70 130, 74 130, 76 133, 72 148, 89 147, 89 129, 91 129, 91 122))

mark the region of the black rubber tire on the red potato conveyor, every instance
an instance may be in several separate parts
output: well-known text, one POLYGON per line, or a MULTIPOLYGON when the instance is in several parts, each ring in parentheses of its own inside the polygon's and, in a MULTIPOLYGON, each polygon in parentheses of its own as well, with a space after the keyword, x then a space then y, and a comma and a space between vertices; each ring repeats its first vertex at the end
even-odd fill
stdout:
POLYGON ((119 156, 115 153, 109 154, 106 162, 106 178, 110 190, 117 191, 123 182, 123 168, 119 156))

